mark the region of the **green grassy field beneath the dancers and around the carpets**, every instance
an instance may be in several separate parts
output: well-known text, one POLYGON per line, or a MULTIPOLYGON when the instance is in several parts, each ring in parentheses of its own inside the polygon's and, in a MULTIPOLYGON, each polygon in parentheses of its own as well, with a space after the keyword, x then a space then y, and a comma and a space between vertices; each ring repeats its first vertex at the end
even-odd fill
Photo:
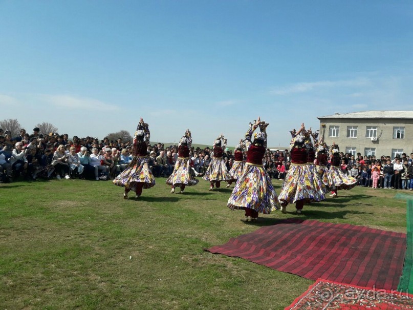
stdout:
MULTIPOLYGON (((297 217, 293 206, 245 223, 226 207, 233 185, 209 192, 201 179, 179 195, 164 181, 138 200, 111 181, 0 184, 0 308, 274 310, 313 283, 203 250, 297 217)), ((401 192, 340 191, 300 217, 405 232, 401 192)))

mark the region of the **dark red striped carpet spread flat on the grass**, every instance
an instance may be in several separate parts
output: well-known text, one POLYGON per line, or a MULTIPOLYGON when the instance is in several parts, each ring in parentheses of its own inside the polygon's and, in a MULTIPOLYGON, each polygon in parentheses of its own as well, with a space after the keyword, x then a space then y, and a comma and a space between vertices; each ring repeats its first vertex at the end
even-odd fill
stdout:
POLYGON ((207 251, 317 280, 396 289, 406 235, 350 224, 288 219, 207 251))

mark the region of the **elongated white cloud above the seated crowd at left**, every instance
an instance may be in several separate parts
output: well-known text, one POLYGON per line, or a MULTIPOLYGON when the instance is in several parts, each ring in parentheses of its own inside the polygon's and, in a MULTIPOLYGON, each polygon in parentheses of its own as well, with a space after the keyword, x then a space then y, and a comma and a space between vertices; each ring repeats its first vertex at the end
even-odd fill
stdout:
POLYGON ((115 111, 119 108, 106 104, 93 98, 79 98, 69 95, 44 95, 42 96, 49 104, 71 109, 91 110, 91 111, 115 111))

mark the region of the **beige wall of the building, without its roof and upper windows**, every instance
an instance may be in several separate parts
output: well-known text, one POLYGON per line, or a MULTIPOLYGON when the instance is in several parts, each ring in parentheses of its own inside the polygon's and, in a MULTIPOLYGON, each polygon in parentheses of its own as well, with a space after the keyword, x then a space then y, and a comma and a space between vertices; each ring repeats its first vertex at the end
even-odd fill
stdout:
POLYGON ((328 146, 332 142, 339 145, 340 151, 346 147, 355 147, 356 153, 364 155, 365 148, 375 148, 376 157, 392 156, 392 149, 403 150, 409 155, 413 152, 413 119, 389 118, 322 118, 320 120, 320 136, 324 131, 324 141, 328 146), (339 136, 329 137, 330 126, 339 126, 339 136), (357 126, 357 138, 347 138, 347 126, 357 126), (377 140, 366 138, 366 127, 377 126, 377 140), (393 128, 404 127, 404 139, 393 138, 393 128))

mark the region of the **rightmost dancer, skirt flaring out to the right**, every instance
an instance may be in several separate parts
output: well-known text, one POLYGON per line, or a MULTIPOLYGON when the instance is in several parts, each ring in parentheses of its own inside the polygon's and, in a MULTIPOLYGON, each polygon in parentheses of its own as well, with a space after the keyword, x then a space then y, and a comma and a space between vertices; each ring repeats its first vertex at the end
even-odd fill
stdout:
POLYGON ((334 143, 330 147, 331 152, 331 165, 330 165, 330 184, 331 189, 330 197, 337 197, 338 190, 351 190, 357 185, 357 179, 351 175, 344 174, 340 169, 340 148, 338 144, 334 143))

